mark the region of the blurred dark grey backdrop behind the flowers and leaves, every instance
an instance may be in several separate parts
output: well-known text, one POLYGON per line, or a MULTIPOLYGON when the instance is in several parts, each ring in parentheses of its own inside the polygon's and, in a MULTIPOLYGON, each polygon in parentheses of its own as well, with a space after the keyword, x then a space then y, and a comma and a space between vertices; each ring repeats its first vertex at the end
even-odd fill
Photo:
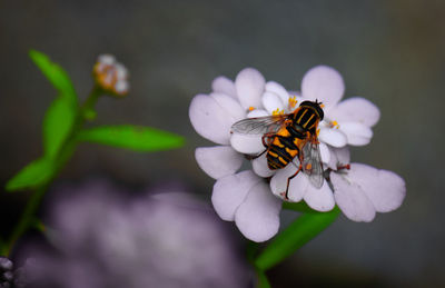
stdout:
MULTIPOLYGON (((182 149, 158 153, 81 145, 56 183, 175 181, 207 202, 214 180, 194 150, 211 143, 189 122, 191 98, 245 67, 297 90, 305 71, 328 64, 343 75, 346 97, 363 96, 382 112, 370 145, 353 149, 353 161, 397 172, 407 197, 370 224, 340 217, 268 272, 273 287, 445 286, 444 27, 438 0, 1 1, 0 185, 41 155, 41 121, 57 93, 29 60, 31 48, 60 63, 83 99, 97 56, 115 54, 130 71, 130 93, 101 99, 97 122, 187 138, 182 149)), ((1 193, 1 236, 29 195, 1 193)))

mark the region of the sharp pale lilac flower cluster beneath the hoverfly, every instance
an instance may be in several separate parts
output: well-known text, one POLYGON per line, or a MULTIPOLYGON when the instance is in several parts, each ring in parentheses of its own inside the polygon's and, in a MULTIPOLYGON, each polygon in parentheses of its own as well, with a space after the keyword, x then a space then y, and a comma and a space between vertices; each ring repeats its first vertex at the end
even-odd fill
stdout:
POLYGON ((348 146, 369 143, 379 110, 360 97, 340 101, 345 85, 335 69, 310 69, 298 92, 266 81, 253 68, 241 70, 235 81, 218 77, 211 88, 209 95, 192 99, 189 117, 195 130, 218 146, 197 148, 196 160, 217 180, 211 196, 215 210, 224 220, 235 221, 245 237, 265 241, 278 231, 283 191, 297 167, 270 170, 263 153, 250 160, 251 169, 237 172, 245 159, 251 158, 246 156, 260 155, 265 147, 261 135, 230 133, 230 127, 245 118, 293 112, 305 100, 323 102, 325 117, 318 126, 318 140, 326 180, 317 189, 300 172, 290 181, 286 200, 304 200, 318 211, 337 205, 354 221, 372 221, 376 212, 402 205, 406 189, 399 176, 350 163, 348 146))

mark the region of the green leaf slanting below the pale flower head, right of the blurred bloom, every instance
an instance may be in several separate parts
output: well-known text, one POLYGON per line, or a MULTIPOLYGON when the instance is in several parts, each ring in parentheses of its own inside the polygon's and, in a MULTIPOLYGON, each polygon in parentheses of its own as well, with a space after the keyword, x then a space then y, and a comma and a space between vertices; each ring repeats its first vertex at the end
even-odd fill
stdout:
POLYGON ((325 230, 335 219, 339 209, 329 212, 305 213, 298 217, 264 249, 255 260, 255 266, 267 270, 294 254, 301 246, 325 230))

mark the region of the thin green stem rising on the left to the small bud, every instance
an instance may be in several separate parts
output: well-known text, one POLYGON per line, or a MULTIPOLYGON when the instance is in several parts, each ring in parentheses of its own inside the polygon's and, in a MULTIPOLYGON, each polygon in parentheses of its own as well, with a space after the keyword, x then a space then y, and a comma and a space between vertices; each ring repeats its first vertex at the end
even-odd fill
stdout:
POLYGON ((83 127, 85 120, 87 119, 86 111, 93 111, 93 107, 101 95, 101 90, 95 86, 88 96, 87 100, 80 107, 80 112, 78 115, 77 123, 72 129, 71 135, 68 137, 67 141, 63 143, 58 158, 55 159, 56 162, 56 172, 55 175, 43 185, 38 187, 36 191, 32 193, 31 198, 28 200, 27 206, 20 217, 19 224, 13 229, 7 246, 2 248, 2 255, 9 256, 12 251, 13 246, 17 240, 28 230, 31 226, 32 220, 34 219, 34 215, 37 209, 40 206, 40 202, 47 191, 50 182, 59 175, 60 170, 65 167, 65 165, 71 159, 73 152, 76 151, 76 136, 78 131, 83 127))

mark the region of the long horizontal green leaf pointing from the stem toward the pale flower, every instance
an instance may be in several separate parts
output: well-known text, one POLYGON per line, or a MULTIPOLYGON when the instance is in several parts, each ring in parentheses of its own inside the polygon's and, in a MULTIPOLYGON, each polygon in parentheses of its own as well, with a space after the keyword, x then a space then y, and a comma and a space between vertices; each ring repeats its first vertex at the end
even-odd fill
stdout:
POLYGON ((130 125, 101 126, 81 130, 78 140, 109 145, 135 151, 159 151, 178 148, 184 138, 149 127, 130 125))

